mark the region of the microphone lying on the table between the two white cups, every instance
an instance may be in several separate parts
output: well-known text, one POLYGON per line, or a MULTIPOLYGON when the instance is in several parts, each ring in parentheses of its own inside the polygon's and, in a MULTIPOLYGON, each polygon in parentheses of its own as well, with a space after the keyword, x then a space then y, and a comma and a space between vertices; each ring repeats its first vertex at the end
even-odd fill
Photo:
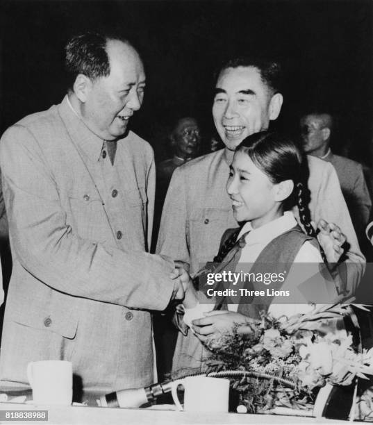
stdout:
POLYGON ((110 394, 100 397, 101 407, 138 408, 145 403, 154 403, 161 394, 171 391, 172 382, 168 381, 149 385, 149 387, 110 392, 110 394))

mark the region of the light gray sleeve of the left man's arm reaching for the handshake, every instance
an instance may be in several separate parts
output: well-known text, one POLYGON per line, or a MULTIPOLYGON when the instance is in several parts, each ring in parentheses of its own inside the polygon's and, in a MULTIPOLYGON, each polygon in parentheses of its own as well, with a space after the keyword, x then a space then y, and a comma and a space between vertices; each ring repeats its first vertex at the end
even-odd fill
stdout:
MULTIPOLYGON (((67 222, 50 165, 33 135, 13 126, 0 144, 12 254, 42 283, 75 297, 163 310, 173 265, 144 252, 84 240, 67 222)), ((68 172, 68 170, 66 170, 68 172)))

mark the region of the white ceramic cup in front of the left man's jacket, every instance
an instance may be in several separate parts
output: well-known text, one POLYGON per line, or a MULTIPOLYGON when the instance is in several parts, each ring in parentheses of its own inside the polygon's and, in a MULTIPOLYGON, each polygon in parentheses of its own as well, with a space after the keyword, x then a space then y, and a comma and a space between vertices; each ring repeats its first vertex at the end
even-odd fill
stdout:
POLYGON ((35 404, 72 404, 72 363, 66 360, 41 360, 27 365, 27 378, 35 404))

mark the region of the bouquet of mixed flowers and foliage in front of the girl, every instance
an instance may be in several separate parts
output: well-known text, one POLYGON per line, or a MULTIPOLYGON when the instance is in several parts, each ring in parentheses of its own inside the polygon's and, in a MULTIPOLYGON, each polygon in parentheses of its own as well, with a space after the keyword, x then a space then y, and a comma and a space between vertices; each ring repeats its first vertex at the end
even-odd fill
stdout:
POLYGON ((248 412, 312 410, 318 387, 351 385, 373 374, 373 349, 361 350, 345 330, 343 319, 352 316, 349 304, 276 319, 263 313, 260 324, 238 325, 234 333, 210 341, 207 373, 247 371, 231 379, 231 387, 248 412))

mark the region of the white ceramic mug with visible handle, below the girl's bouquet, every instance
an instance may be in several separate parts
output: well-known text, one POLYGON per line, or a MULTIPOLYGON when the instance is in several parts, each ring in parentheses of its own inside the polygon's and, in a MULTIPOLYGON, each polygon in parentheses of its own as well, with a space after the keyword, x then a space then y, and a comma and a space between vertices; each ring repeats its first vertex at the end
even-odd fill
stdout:
POLYGON ((174 381, 172 398, 179 410, 186 412, 228 412, 229 380, 209 376, 188 376, 174 381), (177 396, 179 385, 184 387, 184 407, 177 396))

